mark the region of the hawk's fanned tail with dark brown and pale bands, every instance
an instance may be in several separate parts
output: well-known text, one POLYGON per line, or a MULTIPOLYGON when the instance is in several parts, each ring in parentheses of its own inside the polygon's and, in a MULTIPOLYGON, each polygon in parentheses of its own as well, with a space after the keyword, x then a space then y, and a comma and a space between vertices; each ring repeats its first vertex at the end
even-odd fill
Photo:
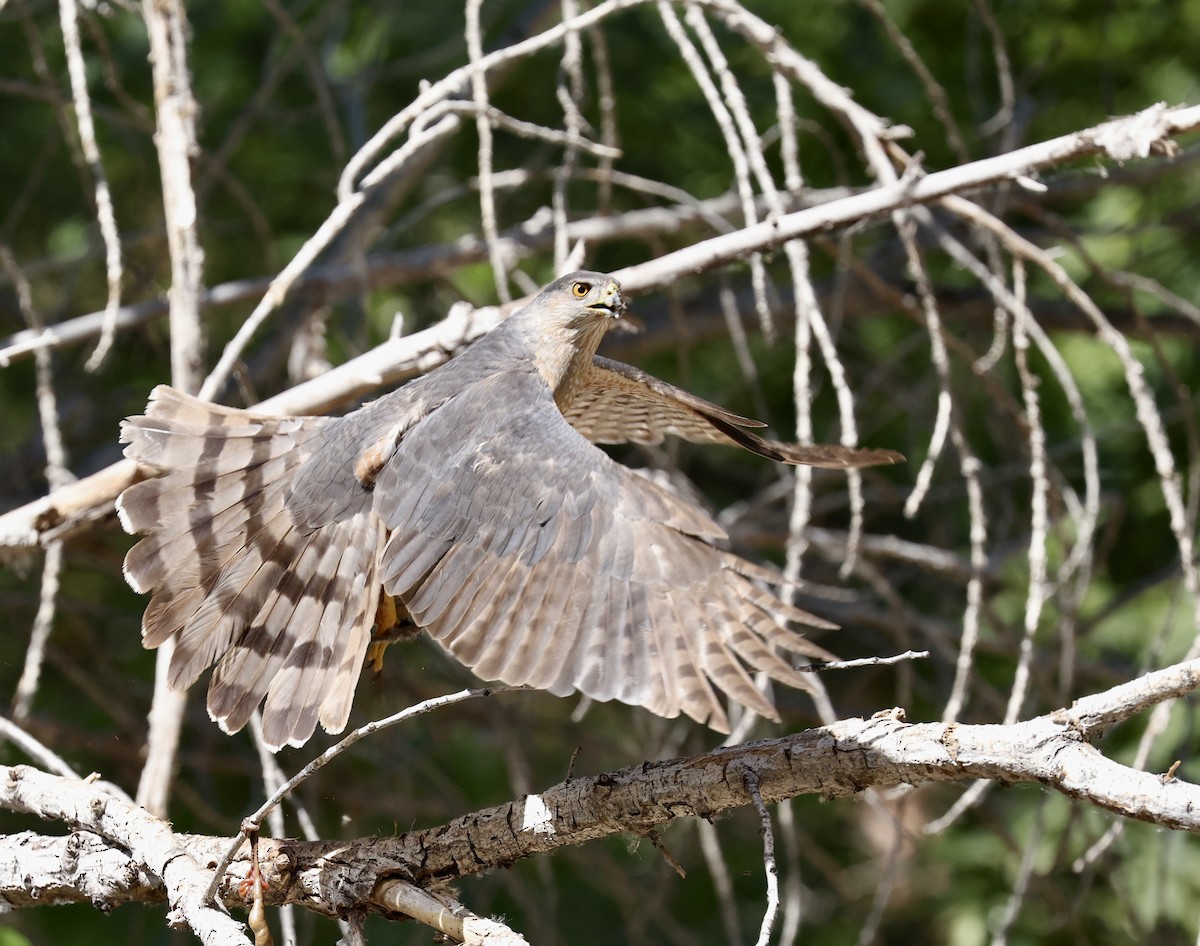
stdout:
POLYGON ((265 697, 272 747, 302 744, 349 716, 379 594, 383 534, 370 496, 319 527, 298 522, 289 489, 326 421, 218 407, 156 388, 121 427, 126 456, 164 475, 118 499, 134 591, 152 593, 143 641, 175 639, 169 681, 211 664, 209 713, 241 729, 265 697))

